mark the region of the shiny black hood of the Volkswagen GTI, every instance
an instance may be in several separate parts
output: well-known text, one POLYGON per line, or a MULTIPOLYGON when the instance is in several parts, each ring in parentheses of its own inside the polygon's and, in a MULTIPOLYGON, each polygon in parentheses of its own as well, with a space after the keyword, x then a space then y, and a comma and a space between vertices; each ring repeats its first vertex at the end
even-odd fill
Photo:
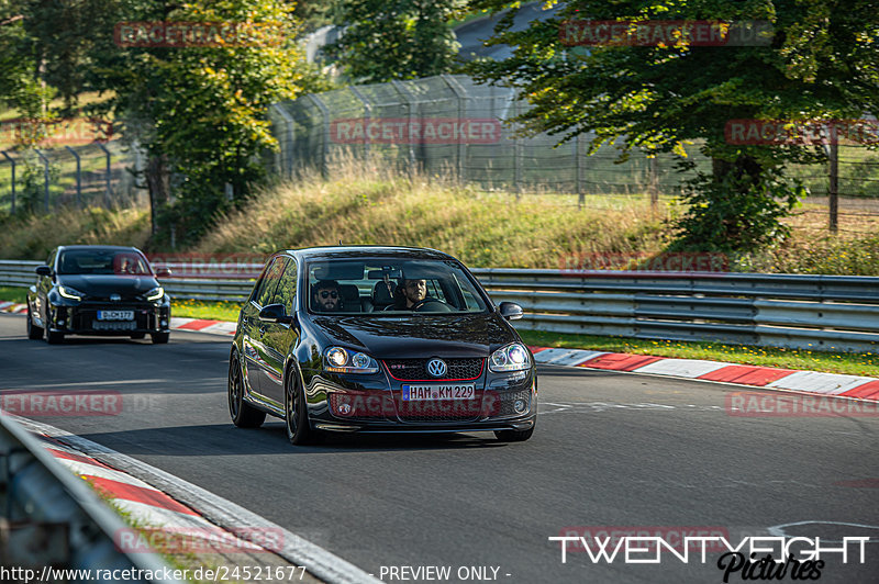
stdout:
POLYGON ((498 314, 313 316, 329 345, 343 345, 377 359, 488 357, 519 340, 498 314))

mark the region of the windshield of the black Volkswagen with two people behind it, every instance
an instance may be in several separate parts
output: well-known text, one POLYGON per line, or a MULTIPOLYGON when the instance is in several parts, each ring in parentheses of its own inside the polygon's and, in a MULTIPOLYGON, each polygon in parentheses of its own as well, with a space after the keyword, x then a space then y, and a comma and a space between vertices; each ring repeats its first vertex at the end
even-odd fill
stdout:
POLYGON ((311 261, 309 310, 319 314, 480 313, 488 306, 454 260, 311 261))

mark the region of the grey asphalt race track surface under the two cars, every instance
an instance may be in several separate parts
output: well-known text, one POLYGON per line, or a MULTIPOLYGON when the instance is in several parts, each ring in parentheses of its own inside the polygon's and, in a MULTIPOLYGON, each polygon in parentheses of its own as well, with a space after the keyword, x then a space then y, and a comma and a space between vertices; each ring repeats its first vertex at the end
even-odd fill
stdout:
POLYGON ((509 583, 723 581, 716 553, 704 564, 691 553, 687 564, 664 554, 636 565, 569 551, 563 563, 547 539, 635 527, 669 541, 721 530, 734 544, 871 537, 866 563, 854 548, 845 565, 830 554, 820 582, 879 581, 875 415, 731 416, 726 396, 742 388, 543 367, 527 442, 335 436, 296 448, 280 420, 232 426, 229 346, 183 332, 164 346, 76 337, 49 346, 26 340, 23 316, 0 314, 0 390, 118 391, 118 415, 34 419, 200 485, 388 582, 405 582, 390 566, 429 565, 449 566, 456 582, 480 581, 457 574, 461 566, 496 568, 509 583))

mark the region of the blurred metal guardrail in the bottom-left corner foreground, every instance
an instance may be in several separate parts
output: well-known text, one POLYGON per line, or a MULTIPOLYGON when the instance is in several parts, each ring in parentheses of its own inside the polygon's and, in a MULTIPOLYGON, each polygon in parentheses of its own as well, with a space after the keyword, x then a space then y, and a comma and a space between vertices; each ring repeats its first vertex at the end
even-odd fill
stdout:
POLYGON ((97 576, 116 570, 127 570, 131 582, 180 582, 162 579, 174 569, 158 555, 120 551, 114 536, 129 528, 7 414, 0 415, 0 566, 16 568, 22 582, 22 570, 33 571, 31 582, 58 582, 74 570, 90 570, 94 582, 111 582, 97 576))

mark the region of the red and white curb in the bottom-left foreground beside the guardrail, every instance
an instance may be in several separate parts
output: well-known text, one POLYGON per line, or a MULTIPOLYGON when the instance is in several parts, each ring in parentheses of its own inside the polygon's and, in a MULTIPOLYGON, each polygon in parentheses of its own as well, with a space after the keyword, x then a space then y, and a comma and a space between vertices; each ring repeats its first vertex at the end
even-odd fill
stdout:
POLYGON ((198 485, 60 428, 2 415, 41 438, 58 462, 126 512, 138 529, 198 537, 203 542, 190 544, 199 550, 270 551, 332 584, 380 582, 320 546, 198 485), (270 546, 259 546, 267 539, 270 546))

